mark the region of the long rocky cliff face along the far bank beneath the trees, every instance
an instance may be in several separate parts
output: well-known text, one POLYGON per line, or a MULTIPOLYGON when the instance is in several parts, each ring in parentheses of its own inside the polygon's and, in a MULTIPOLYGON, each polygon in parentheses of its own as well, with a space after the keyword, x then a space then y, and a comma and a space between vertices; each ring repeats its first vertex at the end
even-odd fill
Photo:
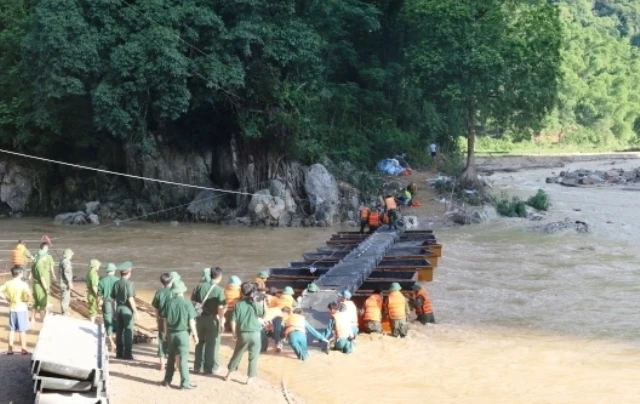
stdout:
MULTIPOLYGON (((248 195, 29 160, 3 160, 0 156, 0 214, 48 214, 56 216, 60 224, 95 224, 100 220, 139 217, 236 225, 331 226, 352 218, 357 211, 358 190, 336 181, 321 164, 305 167, 278 160, 265 169, 254 163, 251 156, 234 159, 233 145, 229 150, 181 152, 156 139, 144 150, 125 144, 120 154, 122 161, 112 165, 120 166, 128 174, 175 183, 220 189, 238 189, 239 184, 244 184, 240 190, 248 195), (241 165, 240 160, 250 163, 241 165), (224 179, 225 183, 216 184, 213 178, 224 179), (158 211, 162 214, 157 214, 158 211)), ((109 169, 95 162, 84 165, 109 169)))

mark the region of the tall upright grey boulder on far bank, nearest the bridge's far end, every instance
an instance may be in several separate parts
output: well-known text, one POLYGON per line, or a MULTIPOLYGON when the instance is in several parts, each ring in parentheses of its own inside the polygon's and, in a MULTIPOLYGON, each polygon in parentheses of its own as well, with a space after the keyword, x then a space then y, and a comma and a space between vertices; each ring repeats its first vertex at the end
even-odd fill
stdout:
POLYGON ((332 225, 338 207, 338 183, 322 164, 314 164, 306 172, 304 189, 317 222, 332 225))

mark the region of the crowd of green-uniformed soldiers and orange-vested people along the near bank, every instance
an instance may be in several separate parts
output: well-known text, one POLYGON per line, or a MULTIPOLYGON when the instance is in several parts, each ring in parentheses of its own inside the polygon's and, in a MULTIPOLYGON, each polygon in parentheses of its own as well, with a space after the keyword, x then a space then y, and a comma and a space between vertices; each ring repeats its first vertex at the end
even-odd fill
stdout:
MULTIPOLYGON (((54 261, 48 253, 49 244, 42 243, 40 251, 31 256, 19 242, 14 250, 14 268, 26 266, 33 260, 31 273, 26 279, 33 281, 33 311, 40 313, 49 309, 48 297, 51 282, 56 280, 54 261), (25 262, 19 262, 23 258, 25 262)), ((61 290, 61 312, 69 314, 71 291, 73 290, 73 251, 64 251, 59 264, 59 286, 61 290)), ((130 281, 133 264, 129 261, 119 265, 108 264, 105 275, 98 275, 101 263, 92 259, 86 276, 87 303, 91 321, 96 321, 101 306, 103 322, 110 350, 116 358, 133 360, 132 346, 134 324, 138 317, 136 292, 130 281), (119 272, 119 277, 115 272, 119 272), (115 335, 115 341, 113 336, 115 335)), ((12 271, 14 272, 14 271, 12 271)), ((380 290, 367 298, 358 310, 351 300, 351 293, 343 291, 337 300, 328 305, 330 321, 326 328, 315 329, 305 319, 299 300, 294 299, 294 290, 287 286, 282 291, 267 288, 268 271, 261 271, 253 282, 241 282, 231 276, 223 288, 223 271, 219 267, 205 268, 200 283, 193 289, 189 300, 184 294, 187 286, 177 272, 160 276, 162 287, 155 293, 152 306, 156 310, 158 327, 159 367, 164 371, 162 384, 169 386, 176 369, 180 372, 180 387, 193 389, 189 378, 190 338, 195 343, 193 372, 205 375, 218 374, 229 380, 237 370, 244 353, 248 351, 249 367, 247 383, 257 376, 260 353, 266 352, 269 341, 274 340, 275 349, 281 352, 283 341, 287 341, 297 358, 308 358, 307 336, 320 343, 326 353, 330 349, 351 353, 359 333, 359 316, 362 316, 367 333, 382 332, 382 319, 389 319, 393 336, 407 335, 407 320, 411 309, 422 324, 435 322, 430 299, 419 285, 413 295, 406 297, 400 285, 393 283, 387 298, 380 290), (235 348, 226 374, 221 374, 219 349, 223 332, 230 332, 235 348)), ((310 284, 308 293, 317 291, 310 284)), ((24 349, 23 349, 24 352, 24 349)))

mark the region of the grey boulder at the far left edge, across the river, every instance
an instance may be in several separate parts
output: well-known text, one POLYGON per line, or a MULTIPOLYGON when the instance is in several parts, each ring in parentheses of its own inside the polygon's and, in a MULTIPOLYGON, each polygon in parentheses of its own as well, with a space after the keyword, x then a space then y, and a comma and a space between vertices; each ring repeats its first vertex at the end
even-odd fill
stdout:
POLYGON ((7 204, 11 213, 25 210, 33 191, 28 170, 9 161, 0 162, 0 202, 7 204))

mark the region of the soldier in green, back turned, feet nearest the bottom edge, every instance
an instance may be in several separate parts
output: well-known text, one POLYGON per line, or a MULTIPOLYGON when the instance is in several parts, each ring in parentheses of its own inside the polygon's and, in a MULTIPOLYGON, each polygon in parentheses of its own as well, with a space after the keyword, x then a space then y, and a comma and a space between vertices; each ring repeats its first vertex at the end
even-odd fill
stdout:
POLYGON ((165 308, 164 324, 169 343, 169 358, 162 385, 171 385, 175 373, 175 358, 176 355, 180 355, 180 388, 190 390, 196 386, 189 381, 189 330, 196 345, 199 341, 195 321, 197 313, 193 304, 184 298, 186 291, 187 287, 182 281, 174 282, 171 287, 174 297, 167 302, 165 308))

